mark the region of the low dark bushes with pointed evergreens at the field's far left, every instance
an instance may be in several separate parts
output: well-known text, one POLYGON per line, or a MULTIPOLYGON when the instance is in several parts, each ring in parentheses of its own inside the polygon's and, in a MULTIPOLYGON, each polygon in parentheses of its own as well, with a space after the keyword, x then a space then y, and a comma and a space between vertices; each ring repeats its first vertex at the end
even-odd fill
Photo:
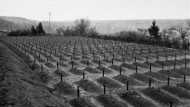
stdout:
POLYGON ((32 26, 30 29, 12 30, 8 33, 8 36, 36 36, 45 34, 46 32, 43 29, 42 23, 40 22, 36 27, 32 26))

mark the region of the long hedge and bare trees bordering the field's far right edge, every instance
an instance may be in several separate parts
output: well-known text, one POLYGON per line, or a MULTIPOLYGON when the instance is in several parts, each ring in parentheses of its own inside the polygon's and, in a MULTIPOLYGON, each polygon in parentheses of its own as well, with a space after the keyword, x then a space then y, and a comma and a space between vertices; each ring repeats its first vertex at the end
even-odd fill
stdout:
POLYGON ((168 29, 160 28, 153 20, 152 25, 147 29, 138 29, 138 31, 120 31, 115 34, 100 34, 96 28, 90 27, 88 19, 78 19, 74 21, 74 26, 62 27, 57 29, 57 35, 61 36, 86 36, 91 38, 101 38, 109 40, 118 40, 125 42, 134 42, 147 45, 159 45, 169 48, 189 49, 190 43, 187 38, 190 31, 190 23, 186 26, 172 26, 168 29), (146 33, 149 33, 147 35, 146 33), (175 37, 179 35, 178 37, 175 37))

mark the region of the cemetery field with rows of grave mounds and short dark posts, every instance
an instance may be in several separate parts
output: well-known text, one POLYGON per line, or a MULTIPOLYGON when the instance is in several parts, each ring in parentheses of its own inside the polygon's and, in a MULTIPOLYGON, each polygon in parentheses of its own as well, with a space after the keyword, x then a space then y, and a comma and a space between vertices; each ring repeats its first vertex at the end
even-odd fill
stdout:
POLYGON ((50 105, 51 101, 60 107, 190 105, 189 50, 78 36, 4 37, 0 42, 11 52, 0 57, 19 57, 12 63, 22 75, 30 70, 21 80, 45 87, 44 92, 56 99, 46 99, 50 105), (34 74, 37 77, 31 79, 34 74))

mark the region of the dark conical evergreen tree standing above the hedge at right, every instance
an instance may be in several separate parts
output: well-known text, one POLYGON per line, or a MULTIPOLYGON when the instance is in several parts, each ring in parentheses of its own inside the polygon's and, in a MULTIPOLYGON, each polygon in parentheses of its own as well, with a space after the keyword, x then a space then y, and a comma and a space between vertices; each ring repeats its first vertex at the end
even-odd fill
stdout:
POLYGON ((160 29, 158 28, 158 26, 156 26, 156 21, 154 20, 152 22, 152 26, 150 26, 150 28, 148 29, 150 36, 156 39, 160 39, 160 35, 158 35, 159 30, 160 29))

